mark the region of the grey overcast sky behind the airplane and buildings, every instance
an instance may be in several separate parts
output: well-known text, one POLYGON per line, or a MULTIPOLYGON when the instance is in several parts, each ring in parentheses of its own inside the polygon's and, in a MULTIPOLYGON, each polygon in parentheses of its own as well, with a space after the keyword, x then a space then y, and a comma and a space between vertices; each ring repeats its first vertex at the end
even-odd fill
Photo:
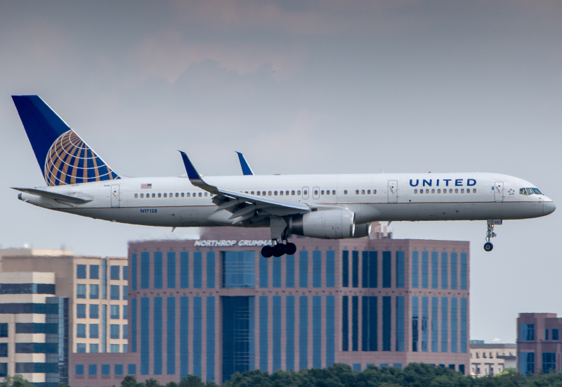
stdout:
MULTIPOLYGON (((0 0, 0 243, 126 255, 196 231, 22 203, 44 179, 12 94, 39 94, 120 175, 499 172, 562 206, 561 1, 0 0)), ((393 223, 471 241, 471 338, 562 316, 562 209, 497 227, 393 223)))

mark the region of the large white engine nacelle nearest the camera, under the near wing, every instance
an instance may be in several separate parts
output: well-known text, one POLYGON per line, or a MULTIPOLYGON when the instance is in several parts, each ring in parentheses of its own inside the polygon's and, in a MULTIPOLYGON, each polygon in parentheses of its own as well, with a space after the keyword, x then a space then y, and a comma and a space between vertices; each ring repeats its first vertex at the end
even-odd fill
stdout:
POLYGON ((355 212, 350 210, 325 210, 296 215, 293 217, 291 232, 309 238, 353 238, 355 212))

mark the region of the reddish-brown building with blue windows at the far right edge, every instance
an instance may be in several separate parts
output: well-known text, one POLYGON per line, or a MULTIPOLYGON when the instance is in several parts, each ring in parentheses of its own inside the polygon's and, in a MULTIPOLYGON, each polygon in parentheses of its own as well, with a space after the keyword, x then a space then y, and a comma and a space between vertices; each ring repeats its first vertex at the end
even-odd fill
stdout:
POLYGON ((517 370, 524 374, 562 371, 562 318, 556 313, 519 313, 517 370))

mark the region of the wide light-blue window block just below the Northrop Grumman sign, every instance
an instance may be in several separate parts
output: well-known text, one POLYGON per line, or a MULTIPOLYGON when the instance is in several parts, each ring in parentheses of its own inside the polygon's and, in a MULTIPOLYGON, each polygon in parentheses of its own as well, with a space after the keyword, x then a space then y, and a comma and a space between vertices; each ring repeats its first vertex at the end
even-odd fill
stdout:
POLYGON ((224 251, 223 288, 256 287, 256 256, 254 251, 224 251))

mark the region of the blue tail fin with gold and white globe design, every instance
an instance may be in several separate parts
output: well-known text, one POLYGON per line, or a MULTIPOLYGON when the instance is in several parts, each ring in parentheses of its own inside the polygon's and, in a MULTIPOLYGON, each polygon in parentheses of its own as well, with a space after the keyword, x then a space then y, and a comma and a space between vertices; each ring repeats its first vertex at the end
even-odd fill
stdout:
POLYGON ((12 96, 49 186, 119 179, 39 96, 12 96))

